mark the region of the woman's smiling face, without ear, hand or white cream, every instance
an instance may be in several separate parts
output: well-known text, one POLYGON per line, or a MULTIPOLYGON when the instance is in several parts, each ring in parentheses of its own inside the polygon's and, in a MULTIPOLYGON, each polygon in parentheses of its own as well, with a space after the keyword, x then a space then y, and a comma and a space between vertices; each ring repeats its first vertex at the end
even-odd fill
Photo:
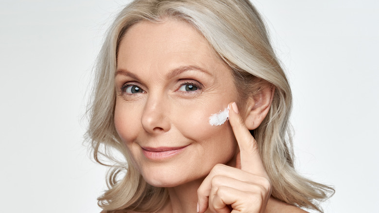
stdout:
POLYGON ((120 43, 115 86, 116 130, 148 183, 172 187, 235 163, 230 124, 209 124, 238 101, 232 73, 187 22, 132 26, 120 43))

